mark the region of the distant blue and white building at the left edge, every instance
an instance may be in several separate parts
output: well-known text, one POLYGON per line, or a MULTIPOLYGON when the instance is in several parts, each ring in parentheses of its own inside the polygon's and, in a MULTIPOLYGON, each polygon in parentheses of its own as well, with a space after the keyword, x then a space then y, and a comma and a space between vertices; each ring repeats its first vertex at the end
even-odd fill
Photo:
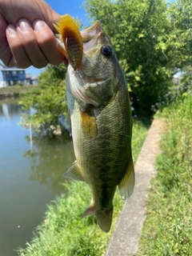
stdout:
POLYGON ((17 67, 0 65, 0 87, 26 84, 26 71, 17 67))

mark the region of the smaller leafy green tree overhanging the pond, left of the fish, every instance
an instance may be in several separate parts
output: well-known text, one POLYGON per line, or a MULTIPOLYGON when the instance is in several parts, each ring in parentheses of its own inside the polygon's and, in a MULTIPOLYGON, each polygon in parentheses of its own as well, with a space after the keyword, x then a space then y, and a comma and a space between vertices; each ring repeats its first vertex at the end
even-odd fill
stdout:
POLYGON ((33 109, 23 115, 22 125, 32 124, 42 134, 66 133, 63 120, 66 115, 66 67, 47 66, 40 75, 38 94, 30 94, 19 103, 24 110, 33 109))

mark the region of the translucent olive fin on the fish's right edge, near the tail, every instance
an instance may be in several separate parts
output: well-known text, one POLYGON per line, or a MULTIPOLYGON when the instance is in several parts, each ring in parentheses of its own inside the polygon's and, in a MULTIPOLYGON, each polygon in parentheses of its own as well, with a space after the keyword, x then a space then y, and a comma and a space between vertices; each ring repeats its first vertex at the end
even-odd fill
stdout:
POLYGON ((123 200, 130 197, 134 190, 134 163, 132 155, 130 155, 130 161, 126 166, 126 172, 122 177, 121 182, 118 184, 118 189, 123 200))

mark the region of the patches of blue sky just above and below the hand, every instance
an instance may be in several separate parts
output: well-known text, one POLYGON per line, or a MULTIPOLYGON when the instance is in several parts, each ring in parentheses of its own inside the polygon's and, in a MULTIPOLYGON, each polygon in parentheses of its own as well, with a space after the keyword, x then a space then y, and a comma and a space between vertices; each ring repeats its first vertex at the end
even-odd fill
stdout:
MULTIPOLYGON (((78 19, 82 21, 83 25, 87 26, 89 24, 86 11, 82 8, 82 0, 46 0, 46 2, 58 14, 70 14, 74 18, 78 17, 78 19)), ((26 74, 36 76, 43 70, 45 69, 36 69, 33 66, 30 66, 26 69, 26 74)))

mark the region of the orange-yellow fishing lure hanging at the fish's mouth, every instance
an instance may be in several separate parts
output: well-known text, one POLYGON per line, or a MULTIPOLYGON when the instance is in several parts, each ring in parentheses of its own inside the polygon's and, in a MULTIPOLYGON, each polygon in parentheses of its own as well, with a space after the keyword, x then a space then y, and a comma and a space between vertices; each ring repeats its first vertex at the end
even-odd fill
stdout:
POLYGON ((83 43, 79 32, 78 22, 75 22, 69 14, 61 16, 57 24, 54 24, 61 35, 66 50, 66 58, 74 70, 82 66, 83 43))

